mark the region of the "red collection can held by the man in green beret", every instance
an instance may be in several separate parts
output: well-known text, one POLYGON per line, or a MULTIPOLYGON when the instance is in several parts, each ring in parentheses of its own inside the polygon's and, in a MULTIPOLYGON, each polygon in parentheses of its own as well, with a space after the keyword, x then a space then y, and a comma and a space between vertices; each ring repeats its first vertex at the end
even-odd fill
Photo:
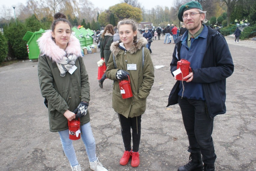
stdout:
MULTIPOLYGON (((191 67, 190 67, 190 62, 187 61, 186 59, 181 59, 180 61, 177 62, 177 69, 181 69, 181 73, 176 75, 176 79, 182 81, 182 79, 189 74, 189 71, 192 72, 191 67)), ((187 81, 187 79, 183 79, 183 81, 187 81)))

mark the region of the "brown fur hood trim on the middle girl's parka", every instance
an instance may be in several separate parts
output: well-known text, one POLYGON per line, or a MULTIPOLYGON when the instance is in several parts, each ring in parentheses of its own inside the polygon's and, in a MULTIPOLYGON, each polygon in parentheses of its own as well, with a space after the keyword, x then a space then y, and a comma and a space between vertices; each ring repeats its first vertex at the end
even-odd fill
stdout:
MULTIPOLYGON (((116 42, 113 42, 110 46, 110 50, 111 52, 117 56, 117 54, 120 52, 120 49, 118 46, 119 46, 120 42, 119 41, 116 41, 116 42)), ((137 41, 137 44, 135 46, 135 44, 132 45, 131 49, 130 49, 130 53, 133 54, 133 53, 136 53, 139 49, 141 49, 143 46, 146 46, 148 44, 148 41, 147 39, 141 37, 139 38, 139 40, 137 41)))

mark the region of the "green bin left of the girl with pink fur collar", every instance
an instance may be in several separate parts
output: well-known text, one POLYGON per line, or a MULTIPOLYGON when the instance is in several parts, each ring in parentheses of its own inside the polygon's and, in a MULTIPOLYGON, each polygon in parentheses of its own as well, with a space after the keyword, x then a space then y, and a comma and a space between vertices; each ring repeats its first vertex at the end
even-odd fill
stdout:
POLYGON ((29 59, 31 59, 32 61, 38 59, 40 50, 36 41, 38 40, 38 38, 42 36, 44 32, 45 32, 44 29, 39 29, 38 32, 34 32, 34 33, 27 31, 25 36, 23 37, 23 40, 27 41, 27 50, 29 54, 29 59))

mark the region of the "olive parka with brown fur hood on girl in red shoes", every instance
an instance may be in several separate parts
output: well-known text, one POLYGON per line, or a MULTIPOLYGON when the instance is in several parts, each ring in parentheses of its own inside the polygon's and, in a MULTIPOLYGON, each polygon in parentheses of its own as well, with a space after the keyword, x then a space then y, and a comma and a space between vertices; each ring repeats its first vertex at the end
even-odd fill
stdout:
POLYGON ((142 47, 146 46, 147 43, 148 41, 145 38, 140 38, 136 46, 135 44, 132 45, 130 51, 121 49, 118 41, 111 44, 111 55, 108 61, 106 76, 111 80, 115 80, 112 106, 115 112, 122 114, 126 118, 140 116, 145 112, 146 98, 154 83, 154 66, 147 48, 144 49, 145 61, 144 67, 142 68, 142 47), (125 53, 127 62, 125 61, 125 53), (114 65, 113 54, 117 68, 114 65), (127 64, 136 64, 137 69, 127 70, 127 64), (119 81, 116 78, 116 72, 119 69, 126 70, 130 74, 133 92, 133 97, 131 98, 122 99, 119 81))

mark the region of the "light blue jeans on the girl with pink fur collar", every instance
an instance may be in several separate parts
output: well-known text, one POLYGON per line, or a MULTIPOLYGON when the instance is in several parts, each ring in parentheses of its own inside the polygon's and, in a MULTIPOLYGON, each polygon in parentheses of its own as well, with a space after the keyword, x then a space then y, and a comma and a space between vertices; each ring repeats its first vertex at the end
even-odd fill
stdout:
MULTIPOLYGON (((96 150, 95 150, 95 140, 93 137, 93 132, 91 129, 90 122, 81 126, 81 138, 84 142, 86 153, 88 155, 89 161, 96 160, 96 150)), ((62 143, 62 148, 67 156, 69 163, 72 167, 78 165, 78 161, 75 155, 75 149, 72 144, 72 140, 69 139, 69 130, 59 131, 60 140, 62 143)))

